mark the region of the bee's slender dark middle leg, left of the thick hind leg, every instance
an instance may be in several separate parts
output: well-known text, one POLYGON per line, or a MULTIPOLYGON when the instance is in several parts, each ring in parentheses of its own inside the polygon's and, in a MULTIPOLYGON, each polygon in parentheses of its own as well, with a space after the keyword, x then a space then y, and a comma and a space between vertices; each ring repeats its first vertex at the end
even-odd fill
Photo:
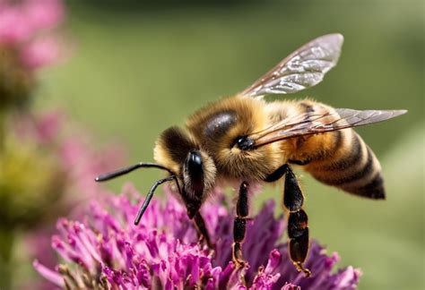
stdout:
POLYGON ((240 184, 239 197, 236 204, 236 218, 233 223, 233 245, 231 249, 233 262, 241 267, 245 265, 245 260, 242 258, 242 243, 245 238, 247 229, 247 216, 248 216, 248 187, 247 182, 240 184))

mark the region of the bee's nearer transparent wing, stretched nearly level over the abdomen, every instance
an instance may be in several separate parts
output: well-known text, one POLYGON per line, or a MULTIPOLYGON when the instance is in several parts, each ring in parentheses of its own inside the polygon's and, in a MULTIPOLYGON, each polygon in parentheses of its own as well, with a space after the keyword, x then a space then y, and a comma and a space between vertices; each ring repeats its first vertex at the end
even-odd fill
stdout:
POLYGON ((256 132, 248 136, 248 138, 254 141, 254 147, 259 147, 274 141, 282 141, 292 137, 374 124, 394 118, 398 115, 403 115, 406 112, 406 110, 359 111, 348 108, 338 108, 334 109, 333 112, 304 113, 284 119, 262 132, 256 132))

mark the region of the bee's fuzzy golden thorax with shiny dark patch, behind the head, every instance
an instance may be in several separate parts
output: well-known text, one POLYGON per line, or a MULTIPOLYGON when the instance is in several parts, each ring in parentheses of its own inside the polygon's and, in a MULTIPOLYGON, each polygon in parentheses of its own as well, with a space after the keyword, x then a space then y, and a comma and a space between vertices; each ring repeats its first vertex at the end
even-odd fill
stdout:
POLYGON ((209 104, 188 118, 189 132, 212 155, 219 175, 260 181, 282 164, 278 144, 256 150, 241 150, 235 146, 238 138, 269 125, 265 104, 263 99, 235 96, 209 104), (204 128, 212 125, 218 129, 206 132, 204 128), (220 126, 226 126, 227 130, 221 132, 220 126))

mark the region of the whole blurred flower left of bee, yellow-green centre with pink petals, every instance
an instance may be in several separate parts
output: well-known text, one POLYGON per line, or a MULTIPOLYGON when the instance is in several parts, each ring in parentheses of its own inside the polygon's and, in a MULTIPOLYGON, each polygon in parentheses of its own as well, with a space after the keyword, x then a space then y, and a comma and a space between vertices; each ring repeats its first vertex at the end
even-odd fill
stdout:
POLYGON ((94 148, 96 143, 59 111, 9 116, 0 154, 0 230, 21 230, 27 255, 22 267, 35 257, 55 265, 49 239, 56 218, 80 217, 81 205, 111 193, 93 176, 123 164, 126 154, 117 144, 94 148))

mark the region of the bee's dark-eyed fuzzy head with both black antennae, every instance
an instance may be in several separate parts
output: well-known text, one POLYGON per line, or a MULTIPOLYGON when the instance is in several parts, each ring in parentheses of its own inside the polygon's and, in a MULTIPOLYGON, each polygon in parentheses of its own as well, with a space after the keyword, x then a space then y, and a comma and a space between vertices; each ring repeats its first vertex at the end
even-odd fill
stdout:
POLYGON ((195 213, 205 200, 215 183, 216 167, 212 158, 197 145, 190 134, 178 127, 171 127, 162 132, 154 149, 154 158, 158 163, 137 163, 95 178, 97 182, 107 181, 117 176, 126 175, 137 168, 156 167, 169 172, 169 176, 158 180, 139 209, 134 224, 137 225, 152 199, 155 189, 164 182, 175 181, 178 192, 186 203, 187 213, 194 218, 195 213), (183 182, 183 188, 180 183, 183 182))

